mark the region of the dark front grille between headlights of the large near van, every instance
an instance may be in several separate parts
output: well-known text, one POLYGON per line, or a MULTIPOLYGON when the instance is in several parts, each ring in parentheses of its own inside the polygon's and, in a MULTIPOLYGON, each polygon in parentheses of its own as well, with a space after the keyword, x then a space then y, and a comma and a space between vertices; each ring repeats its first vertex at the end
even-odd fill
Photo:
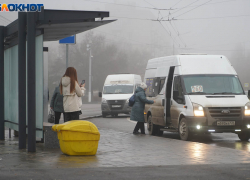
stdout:
POLYGON ((241 107, 209 107, 208 111, 213 118, 240 117, 241 107))

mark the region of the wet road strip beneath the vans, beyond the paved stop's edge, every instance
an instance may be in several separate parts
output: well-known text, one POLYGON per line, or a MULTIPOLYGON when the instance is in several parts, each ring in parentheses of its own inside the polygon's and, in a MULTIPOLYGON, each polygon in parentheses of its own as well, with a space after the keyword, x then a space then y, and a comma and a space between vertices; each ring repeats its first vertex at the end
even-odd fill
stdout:
MULTIPOLYGON (((90 121, 100 128, 108 128, 128 133, 132 133, 135 126, 135 122, 130 121, 129 116, 127 115, 119 115, 117 118, 107 116, 107 118, 95 118, 90 121)), ((146 134, 148 134, 146 124, 145 131, 146 134)), ((170 133, 166 131, 164 132, 162 138, 180 140, 177 133, 170 133)), ((194 136, 191 141, 250 152, 250 142, 240 141, 238 135, 234 133, 212 133, 211 135, 194 136)))

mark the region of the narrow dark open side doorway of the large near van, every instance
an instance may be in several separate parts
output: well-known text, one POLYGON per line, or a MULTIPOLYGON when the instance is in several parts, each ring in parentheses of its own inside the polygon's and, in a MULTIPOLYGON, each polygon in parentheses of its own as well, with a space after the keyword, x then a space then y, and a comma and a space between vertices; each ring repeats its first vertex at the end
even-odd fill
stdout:
POLYGON ((170 108, 171 108, 171 91, 172 91, 172 84, 173 84, 173 77, 174 77, 174 69, 175 66, 170 66, 168 72, 168 79, 166 85, 166 93, 165 93, 165 116, 166 116, 166 126, 171 124, 171 116, 170 116, 170 108))

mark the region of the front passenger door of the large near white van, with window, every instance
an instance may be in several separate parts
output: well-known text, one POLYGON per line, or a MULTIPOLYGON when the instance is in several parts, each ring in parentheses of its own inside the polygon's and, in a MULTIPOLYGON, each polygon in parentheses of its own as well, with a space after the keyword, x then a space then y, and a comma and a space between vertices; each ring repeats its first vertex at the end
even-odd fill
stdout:
POLYGON ((183 95, 183 87, 181 83, 181 77, 175 76, 173 82, 172 100, 171 100, 171 121, 175 128, 179 125, 179 116, 182 111, 184 111, 185 98, 183 95))

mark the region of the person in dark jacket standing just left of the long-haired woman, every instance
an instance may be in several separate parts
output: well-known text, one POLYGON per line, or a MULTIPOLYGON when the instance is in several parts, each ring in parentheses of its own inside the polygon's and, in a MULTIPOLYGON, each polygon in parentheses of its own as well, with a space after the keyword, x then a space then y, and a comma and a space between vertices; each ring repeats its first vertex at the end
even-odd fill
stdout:
MULTIPOLYGON (((59 85, 60 86, 60 85, 59 85)), ((56 87, 53 93, 53 96, 50 101, 50 108, 55 112, 55 124, 59 124, 61 118, 61 113, 64 113, 63 110, 63 95, 60 93, 60 87, 56 87)), ((64 114, 63 114, 64 116, 64 114)))

